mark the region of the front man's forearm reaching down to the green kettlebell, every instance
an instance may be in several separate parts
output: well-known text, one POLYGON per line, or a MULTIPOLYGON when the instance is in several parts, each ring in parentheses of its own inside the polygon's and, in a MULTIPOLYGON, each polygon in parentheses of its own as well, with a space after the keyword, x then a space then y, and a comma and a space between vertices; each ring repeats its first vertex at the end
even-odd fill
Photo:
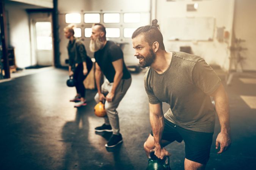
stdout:
POLYGON ((163 127, 164 127, 163 115, 150 113, 149 119, 150 119, 152 131, 154 134, 154 145, 155 147, 159 148, 161 147, 161 140, 162 140, 162 134, 163 134, 163 127))

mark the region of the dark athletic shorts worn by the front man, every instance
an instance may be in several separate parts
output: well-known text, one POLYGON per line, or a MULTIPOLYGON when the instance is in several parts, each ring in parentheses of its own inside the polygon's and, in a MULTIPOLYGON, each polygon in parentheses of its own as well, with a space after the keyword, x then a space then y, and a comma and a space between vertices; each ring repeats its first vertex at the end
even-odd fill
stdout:
MULTIPOLYGON (((186 130, 164 118, 162 139, 166 141, 185 142, 185 158, 190 161, 206 164, 210 158, 210 147, 212 145, 213 133, 204 133, 186 130)), ((151 131, 151 135, 153 133, 151 131)))

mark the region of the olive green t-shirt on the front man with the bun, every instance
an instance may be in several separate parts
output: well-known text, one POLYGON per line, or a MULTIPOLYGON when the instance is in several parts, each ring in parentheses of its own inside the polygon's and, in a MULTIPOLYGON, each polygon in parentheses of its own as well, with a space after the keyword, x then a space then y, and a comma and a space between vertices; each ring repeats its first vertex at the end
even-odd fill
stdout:
POLYGON ((149 103, 166 102, 170 111, 165 118, 187 130, 214 131, 215 110, 210 100, 221 84, 215 71, 201 58, 172 52, 168 69, 158 74, 151 67, 144 77, 149 103))

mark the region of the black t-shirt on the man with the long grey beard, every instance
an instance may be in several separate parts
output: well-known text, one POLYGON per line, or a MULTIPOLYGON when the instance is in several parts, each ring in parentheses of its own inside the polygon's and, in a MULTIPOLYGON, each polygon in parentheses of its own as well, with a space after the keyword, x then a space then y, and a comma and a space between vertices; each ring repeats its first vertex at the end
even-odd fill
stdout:
MULTIPOLYGON (((112 41, 107 41, 104 48, 94 53, 94 58, 101 68, 102 73, 106 76, 110 83, 114 82, 115 68, 112 62, 124 59, 123 51, 121 48, 112 41)), ((129 79, 131 77, 129 71, 123 60, 123 77, 122 79, 129 79)))

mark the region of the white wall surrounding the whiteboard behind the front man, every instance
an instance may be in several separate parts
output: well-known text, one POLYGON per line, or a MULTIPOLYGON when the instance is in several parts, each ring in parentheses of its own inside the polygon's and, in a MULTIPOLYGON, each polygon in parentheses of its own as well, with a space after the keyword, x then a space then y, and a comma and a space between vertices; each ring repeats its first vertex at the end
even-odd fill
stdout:
POLYGON ((231 36, 227 42, 218 42, 215 29, 213 41, 170 41, 167 40, 166 32, 168 31, 167 22, 169 17, 214 17, 215 28, 225 26, 225 30, 231 34, 234 0, 184 0, 175 2, 157 0, 156 6, 156 18, 159 20, 166 50, 179 51, 180 46, 191 46, 193 53, 203 57, 207 63, 217 64, 224 70, 228 70, 230 56, 228 47, 231 43, 231 36), (198 10, 196 12, 187 12, 187 4, 192 3, 198 3, 198 10))

